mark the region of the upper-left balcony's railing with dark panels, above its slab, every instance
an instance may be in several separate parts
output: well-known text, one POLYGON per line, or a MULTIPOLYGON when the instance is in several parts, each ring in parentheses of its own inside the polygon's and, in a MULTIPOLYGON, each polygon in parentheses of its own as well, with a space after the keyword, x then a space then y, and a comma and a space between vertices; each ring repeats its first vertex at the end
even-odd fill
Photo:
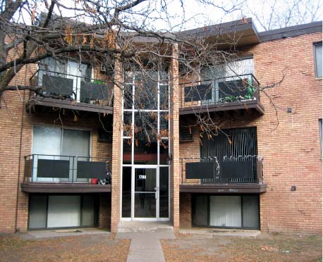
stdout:
POLYGON ((39 69, 30 78, 30 85, 41 88, 45 97, 112 106, 113 85, 105 80, 39 69))

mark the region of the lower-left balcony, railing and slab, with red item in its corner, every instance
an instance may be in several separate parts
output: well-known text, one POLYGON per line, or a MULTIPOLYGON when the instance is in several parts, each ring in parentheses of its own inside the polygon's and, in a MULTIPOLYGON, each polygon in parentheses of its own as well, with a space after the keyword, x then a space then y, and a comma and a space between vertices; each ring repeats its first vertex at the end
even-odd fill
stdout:
POLYGON ((111 192, 111 158, 25 156, 21 189, 29 193, 111 192))

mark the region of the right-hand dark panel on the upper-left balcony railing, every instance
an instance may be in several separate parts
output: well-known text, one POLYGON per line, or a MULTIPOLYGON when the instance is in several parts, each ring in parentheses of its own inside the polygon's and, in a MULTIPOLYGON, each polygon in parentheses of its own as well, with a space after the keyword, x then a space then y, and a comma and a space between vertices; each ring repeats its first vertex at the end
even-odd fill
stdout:
POLYGON ((103 84, 80 82, 80 102, 90 103, 93 100, 108 101, 108 86, 103 84))

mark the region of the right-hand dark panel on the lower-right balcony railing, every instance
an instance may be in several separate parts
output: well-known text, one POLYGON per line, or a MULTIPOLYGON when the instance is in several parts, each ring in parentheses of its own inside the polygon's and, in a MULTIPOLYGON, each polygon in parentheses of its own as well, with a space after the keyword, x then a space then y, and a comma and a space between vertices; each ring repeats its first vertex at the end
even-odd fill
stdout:
POLYGON ((228 181, 253 181, 255 175, 252 168, 252 161, 221 161, 221 177, 228 181))

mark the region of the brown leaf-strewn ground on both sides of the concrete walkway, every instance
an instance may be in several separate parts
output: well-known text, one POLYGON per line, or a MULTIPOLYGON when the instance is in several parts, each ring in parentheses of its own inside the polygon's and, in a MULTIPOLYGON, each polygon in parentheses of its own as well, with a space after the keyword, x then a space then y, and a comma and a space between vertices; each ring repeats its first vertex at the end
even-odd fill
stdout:
MULTIPOLYGON (((176 234, 176 239, 161 242, 166 262, 322 262, 322 237, 319 236, 176 234)), ((49 239, 2 235, 0 261, 126 261, 129 247, 130 239, 114 239, 113 235, 49 239)))

